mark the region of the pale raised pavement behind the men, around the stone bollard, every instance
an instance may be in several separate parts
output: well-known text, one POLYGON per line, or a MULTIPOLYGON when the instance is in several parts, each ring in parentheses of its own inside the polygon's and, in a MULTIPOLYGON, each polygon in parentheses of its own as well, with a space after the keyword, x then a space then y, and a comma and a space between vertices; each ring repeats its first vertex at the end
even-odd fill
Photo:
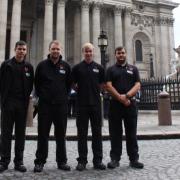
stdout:
MULTIPOLYGON (((180 137, 180 111, 172 111, 172 125, 171 126, 159 126, 158 125, 158 111, 139 111, 137 134, 139 138, 149 139, 152 138, 165 138, 167 136, 173 137, 177 135, 180 137)), ((108 121, 103 121, 102 134, 108 137, 108 121)), ((28 127, 26 131, 27 135, 31 139, 31 136, 37 136, 37 117, 34 119, 33 127, 28 127)), ((51 135, 54 134, 54 129, 51 128, 51 135)), ((67 124, 67 137, 76 138, 77 128, 75 119, 68 119, 67 124)), ((91 129, 89 128, 89 135, 91 135, 91 129)))

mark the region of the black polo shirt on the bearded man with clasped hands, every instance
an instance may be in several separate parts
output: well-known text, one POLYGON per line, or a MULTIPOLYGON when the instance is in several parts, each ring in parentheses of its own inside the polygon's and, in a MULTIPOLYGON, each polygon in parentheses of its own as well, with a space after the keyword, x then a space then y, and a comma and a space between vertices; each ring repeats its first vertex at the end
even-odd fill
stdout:
POLYGON ((130 64, 121 66, 116 63, 107 70, 106 82, 109 81, 120 94, 126 94, 136 82, 140 82, 138 69, 130 64))

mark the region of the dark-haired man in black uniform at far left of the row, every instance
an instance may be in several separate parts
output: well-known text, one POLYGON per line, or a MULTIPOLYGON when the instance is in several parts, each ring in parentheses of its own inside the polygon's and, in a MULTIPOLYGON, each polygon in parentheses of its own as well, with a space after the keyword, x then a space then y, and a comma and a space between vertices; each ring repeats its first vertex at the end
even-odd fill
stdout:
POLYGON ((2 63, 0 69, 1 140, 0 172, 8 169, 11 159, 11 140, 15 124, 15 170, 25 172, 23 152, 25 144, 26 114, 33 88, 34 71, 25 61, 27 44, 18 41, 15 56, 2 63))

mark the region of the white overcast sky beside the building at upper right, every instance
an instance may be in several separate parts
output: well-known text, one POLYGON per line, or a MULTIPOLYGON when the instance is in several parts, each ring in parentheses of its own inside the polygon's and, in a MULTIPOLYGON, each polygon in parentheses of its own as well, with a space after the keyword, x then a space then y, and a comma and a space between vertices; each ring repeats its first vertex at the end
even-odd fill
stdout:
MULTIPOLYGON (((180 4, 180 0, 173 0, 180 4)), ((178 8, 174 9, 174 40, 175 40, 175 47, 180 45, 180 5, 178 8)))

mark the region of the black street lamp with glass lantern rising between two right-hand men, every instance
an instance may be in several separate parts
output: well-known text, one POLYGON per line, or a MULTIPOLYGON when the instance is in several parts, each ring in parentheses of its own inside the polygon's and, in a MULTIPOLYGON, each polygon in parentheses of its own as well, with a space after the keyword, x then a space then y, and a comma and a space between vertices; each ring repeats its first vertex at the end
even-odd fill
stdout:
POLYGON ((108 47, 108 38, 105 31, 101 31, 98 37, 98 46, 101 51, 101 65, 106 69, 106 49, 108 47))

